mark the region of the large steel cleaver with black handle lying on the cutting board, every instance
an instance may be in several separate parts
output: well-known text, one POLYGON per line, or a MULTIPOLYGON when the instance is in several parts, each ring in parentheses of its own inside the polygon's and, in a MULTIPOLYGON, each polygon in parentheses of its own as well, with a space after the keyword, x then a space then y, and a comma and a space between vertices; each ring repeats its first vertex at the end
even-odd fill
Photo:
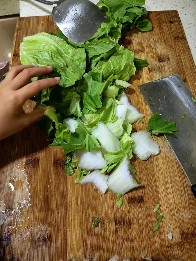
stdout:
POLYGON ((172 135, 165 134, 174 154, 190 181, 196 198, 196 103, 178 75, 139 86, 152 113, 160 113, 164 120, 176 123, 172 135), (186 117, 182 119, 182 115, 186 117))

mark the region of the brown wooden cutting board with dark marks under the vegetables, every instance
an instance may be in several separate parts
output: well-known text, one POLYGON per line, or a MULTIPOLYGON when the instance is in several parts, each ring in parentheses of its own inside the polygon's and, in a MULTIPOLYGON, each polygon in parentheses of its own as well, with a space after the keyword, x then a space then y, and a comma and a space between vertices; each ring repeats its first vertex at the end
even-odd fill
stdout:
MULTIPOLYGON (((133 130, 146 130, 150 110, 138 86, 178 74, 196 96, 196 70, 177 11, 149 12, 153 30, 132 30, 122 39, 148 67, 131 77, 127 92, 145 114, 133 130)), ((20 64, 24 36, 56 32, 51 16, 18 19, 11 66, 20 64)), ((33 110, 28 101, 24 108, 33 110)), ((160 154, 147 161, 133 157, 136 180, 142 186, 123 196, 102 195, 91 184, 74 184, 64 173, 61 148, 48 148, 35 125, 0 142, 1 260, 123 261, 196 260, 196 200, 190 184, 166 139, 153 137, 160 154), (14 186, 8 186, 11 183, 14 186), (152 232, 161 203, 163 221, 152 232), (93 217, 100 219, 92 230, 93 217), (119 228, 117 225, 119 224, 119 228), (173 233, 173 240, 167 234, 173 233)), ((181 148, 182 150, 185 148, 181 148)))

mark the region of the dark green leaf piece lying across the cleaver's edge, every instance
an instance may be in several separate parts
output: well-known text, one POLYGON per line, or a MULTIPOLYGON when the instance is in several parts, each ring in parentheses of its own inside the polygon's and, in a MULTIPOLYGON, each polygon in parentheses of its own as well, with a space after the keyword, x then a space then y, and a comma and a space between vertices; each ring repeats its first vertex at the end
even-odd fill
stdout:
POLYGON ((173 134, 178 130, 175 122, 161 119, 161 115, 159 113, 154 113, 150 117, 147 129, 154 135, 158 135, 159 133, 173 134))

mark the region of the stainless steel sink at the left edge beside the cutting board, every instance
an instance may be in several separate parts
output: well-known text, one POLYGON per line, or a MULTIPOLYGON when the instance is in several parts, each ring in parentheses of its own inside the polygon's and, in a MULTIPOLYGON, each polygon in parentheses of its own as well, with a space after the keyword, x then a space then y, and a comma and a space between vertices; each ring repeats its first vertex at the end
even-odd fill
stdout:
POLYGON ((11 57, 14 32, 18 17, 19 14, 0 17, 0 62, 8 61, 11 57))

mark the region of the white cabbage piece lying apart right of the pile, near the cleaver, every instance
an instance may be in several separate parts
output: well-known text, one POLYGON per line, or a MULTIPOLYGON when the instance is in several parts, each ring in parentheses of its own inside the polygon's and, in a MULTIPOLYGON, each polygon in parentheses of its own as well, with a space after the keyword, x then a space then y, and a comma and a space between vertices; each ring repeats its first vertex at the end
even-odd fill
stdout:
POLYGON ((133 153, 141 160, 148 160, 151 155, 159 154, 159 144, 152 139, 149 131, 137 131, 131 137, 135 143, 133 153))

